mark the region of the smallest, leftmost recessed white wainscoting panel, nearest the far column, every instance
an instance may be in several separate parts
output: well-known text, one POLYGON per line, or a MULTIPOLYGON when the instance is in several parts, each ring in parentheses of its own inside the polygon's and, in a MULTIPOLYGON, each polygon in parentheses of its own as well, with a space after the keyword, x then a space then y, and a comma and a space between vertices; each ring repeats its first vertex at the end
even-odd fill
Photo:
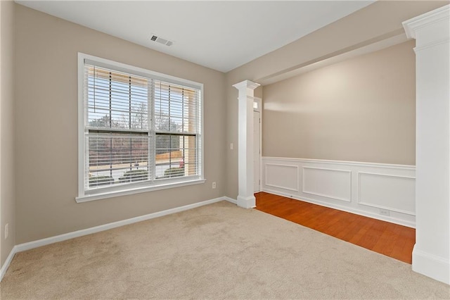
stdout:
POLYGON ((264 169, 264 182, 267 186, 298 192, 297 165, 266 163, 264 169))

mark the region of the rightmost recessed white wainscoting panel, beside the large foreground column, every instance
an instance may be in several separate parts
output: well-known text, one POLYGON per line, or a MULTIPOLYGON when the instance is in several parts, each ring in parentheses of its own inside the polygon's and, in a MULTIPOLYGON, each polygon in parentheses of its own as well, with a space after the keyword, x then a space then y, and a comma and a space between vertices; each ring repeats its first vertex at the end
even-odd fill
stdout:
POLYGON ((415 214, 414 177, 359 172, 358 181, 359 204, 415 214))

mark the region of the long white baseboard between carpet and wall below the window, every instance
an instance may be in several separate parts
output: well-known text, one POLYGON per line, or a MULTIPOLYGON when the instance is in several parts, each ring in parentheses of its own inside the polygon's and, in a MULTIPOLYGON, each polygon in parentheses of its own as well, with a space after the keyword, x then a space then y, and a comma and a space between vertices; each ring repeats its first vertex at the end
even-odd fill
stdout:
POLYGON ((133 223, 138 223, 141 221, 145 221, 145 220, 150 220, 153 218, 158 218, 158 217, 162 217, 163 215, 170 215, 172 213, 179 213, 181 211, 188 211, 189 209, 192 208, 197 208, 200 206, 205 206, 207 204, 213 204, 219 201, 229 201, 233 204, 236 204, 236 200, 231 199, 229 197, 226 196, 222 196, 219 198, 215 198, 215 199, 210 199, 210 200, 206 200, 206 201, 201 201, 198 203, 194 203, 194 204, 189 204, 186 206, 180 206, 180 207, 176 207, 176 208, 170 208, 167 209, 165 211, 158 211, 156 213, 149 213, 148 215, 140 215, 139 217, 135 217, 135 218, 129 218, 127 220, 120 220, 117 222, 113 222, 113 223, 108 223, 108 224, 104 224, 104 225, 99 225, 96 227, 90 227, 90 228, 86 228, 83 230, 77 230, 74 232, 68 232, 65 233, 63 235, 56 235, 54 237, 46 237, 45 239, 38 239, 37 241, 32 241, 32 242, 27 242, 27 243, 23 243, 23 244, 18 244, 15 245, 13 247, 13 249, 11 250, 11 253, 8 255, 8 258, 6 258, 6 261, 4 263, 4 265, 1 266, 0 268, 0 282, 1 280, 3 280, 4 275, 6 274, 6 270, 8 270, 9 265, 11 264, 11 261, 13 261, 13 257, 16 253, 21 252, 21 251, 26 251, 26 250, 30 250, 30 249, 34 249, 40 246, 45 246, 45 245, 49 245, 49 244, 53 244, 53 243, 57 243, 57 242, 63 242, 67 239, 73 239, 75 237, 82 237, 84 235, 91 235, 93 233, 96 232, 101 232, 101 231, 105 231, 105 230, 110 230, 116 227, 121 227, 124 225, 129 225, 129 224, 133 224, 133 223))

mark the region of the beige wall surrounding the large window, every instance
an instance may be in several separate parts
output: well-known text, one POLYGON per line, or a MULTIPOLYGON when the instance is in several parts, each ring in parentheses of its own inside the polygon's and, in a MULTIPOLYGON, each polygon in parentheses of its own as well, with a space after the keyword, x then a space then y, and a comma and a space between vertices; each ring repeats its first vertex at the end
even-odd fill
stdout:
POLYGON ((20 5, 15 34, 18 244, 224 196, 223 73, 20 5), (204 84, 205 184, 75 203, 78 51, 204 84))

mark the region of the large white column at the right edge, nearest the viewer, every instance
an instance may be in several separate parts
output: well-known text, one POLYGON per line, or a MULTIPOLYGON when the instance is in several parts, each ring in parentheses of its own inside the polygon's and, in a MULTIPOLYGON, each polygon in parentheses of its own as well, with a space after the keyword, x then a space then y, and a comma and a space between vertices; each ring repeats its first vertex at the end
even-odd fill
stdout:
POLYGON ((450 284, 450 6, 403 25, 416 39, 413 270, 450 284))

